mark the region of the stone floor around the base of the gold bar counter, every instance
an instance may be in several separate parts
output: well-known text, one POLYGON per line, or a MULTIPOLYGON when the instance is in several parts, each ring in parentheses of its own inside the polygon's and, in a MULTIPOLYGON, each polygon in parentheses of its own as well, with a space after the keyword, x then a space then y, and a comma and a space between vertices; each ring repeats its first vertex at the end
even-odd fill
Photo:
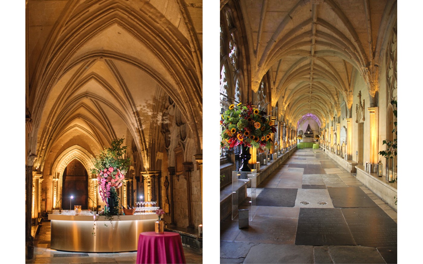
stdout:
MULTIPOLYGON (((200 250, 184 246, 187 263, 203 263, 200 250)), ((80 253, 50 249, 50 223, 43 222, 34 241, 34 258, 26 263, 135 263, 137 252, 80 253)))

